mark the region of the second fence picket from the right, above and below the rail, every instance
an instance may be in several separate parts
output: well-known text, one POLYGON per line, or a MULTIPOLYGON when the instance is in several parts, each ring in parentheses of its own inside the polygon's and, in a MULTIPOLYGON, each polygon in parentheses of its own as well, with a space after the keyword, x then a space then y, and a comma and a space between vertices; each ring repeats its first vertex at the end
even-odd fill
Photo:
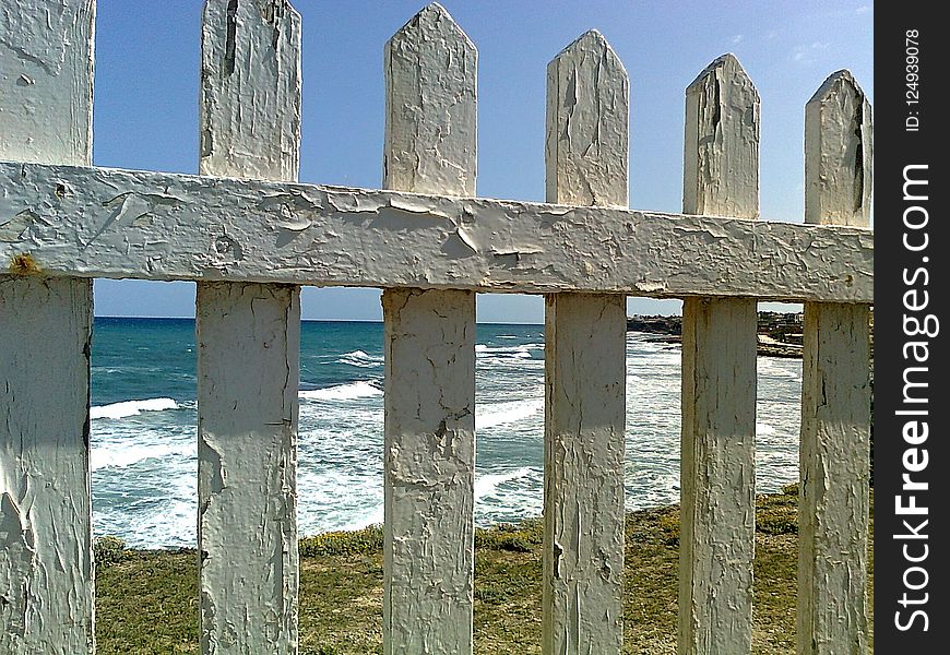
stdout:
MULTIPOLYGON (((759 94, 732 55, 686 90, 682 195, 684 213, 759 215, 759 94)), ((684 301, 680 655, 752 647, 756 331, 753 299, 684 301)))

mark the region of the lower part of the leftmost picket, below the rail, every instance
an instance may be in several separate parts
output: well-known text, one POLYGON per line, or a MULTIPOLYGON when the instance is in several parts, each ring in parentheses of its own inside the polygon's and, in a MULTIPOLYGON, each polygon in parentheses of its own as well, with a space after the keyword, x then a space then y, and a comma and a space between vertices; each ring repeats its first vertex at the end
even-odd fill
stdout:
POLYGON ((0 653, 93 652, 91 329, 91 281, 0 276, 0 653))

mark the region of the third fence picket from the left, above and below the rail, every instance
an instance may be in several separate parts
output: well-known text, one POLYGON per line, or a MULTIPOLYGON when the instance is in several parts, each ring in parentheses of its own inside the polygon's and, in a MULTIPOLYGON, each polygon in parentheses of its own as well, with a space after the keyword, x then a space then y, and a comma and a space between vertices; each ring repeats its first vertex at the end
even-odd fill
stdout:
MULTIPOLYGON (((475 193, 477 53, 438 4, 385 47, 384 184, 475 193)), ((420 264, 423 266, 423 264, 420 264)), ((383 652, 472 653, 475 294, 385 289, 383 652)))

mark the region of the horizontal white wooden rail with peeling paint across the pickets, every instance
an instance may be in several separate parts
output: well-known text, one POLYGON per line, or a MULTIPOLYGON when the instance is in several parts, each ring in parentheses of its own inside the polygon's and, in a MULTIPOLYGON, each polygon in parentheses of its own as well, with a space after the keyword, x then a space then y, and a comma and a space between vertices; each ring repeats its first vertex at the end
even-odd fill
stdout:
POLYGON ((0 164, 0 269, 477 291, 874 300, 874 233, 0 164))

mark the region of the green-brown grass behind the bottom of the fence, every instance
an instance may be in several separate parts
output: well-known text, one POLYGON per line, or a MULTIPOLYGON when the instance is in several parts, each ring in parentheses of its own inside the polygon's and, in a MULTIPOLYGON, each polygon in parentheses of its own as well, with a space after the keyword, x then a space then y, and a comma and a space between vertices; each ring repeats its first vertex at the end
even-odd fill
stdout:
MULTIPOLYGON (((795 653, 797 499, 789 487, 757 501, 755 653, 795 653)), ((539 520, 477 531, 476 653, 541 653, 542 534, 539 520)), ((194 551, 100 551, 97 652, 198 653, 194 551)), ((678 552, 677 508, 628 515, 625 654, 676 652, 678 552)), ((300 655, 381 653, 382 531, 308 537, 300 553, 300 655)), ((872 558, 869 549, 871 583, 872 558)), ((872 652, 871 630, 869 641, 872 652)))

